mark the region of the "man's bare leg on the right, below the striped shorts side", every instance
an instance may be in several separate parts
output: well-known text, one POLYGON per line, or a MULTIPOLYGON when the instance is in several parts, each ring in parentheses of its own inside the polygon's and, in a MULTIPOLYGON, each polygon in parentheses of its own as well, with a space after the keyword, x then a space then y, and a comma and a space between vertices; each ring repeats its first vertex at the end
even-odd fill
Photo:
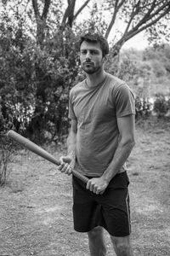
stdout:
POLYGON ((133 250, 130 244, 130 236, 111 236, 111 241, 117 256, 133 256, 133 250))

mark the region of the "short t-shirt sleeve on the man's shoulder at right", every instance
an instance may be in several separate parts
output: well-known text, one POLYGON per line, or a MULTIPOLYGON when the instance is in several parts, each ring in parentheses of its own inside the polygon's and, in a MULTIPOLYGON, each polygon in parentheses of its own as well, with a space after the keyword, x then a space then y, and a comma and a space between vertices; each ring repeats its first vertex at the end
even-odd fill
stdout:
POLYGON ((121 84, 115 92, 116 117, 135 114, 135 102, 132 90, 127 84, 121 84))

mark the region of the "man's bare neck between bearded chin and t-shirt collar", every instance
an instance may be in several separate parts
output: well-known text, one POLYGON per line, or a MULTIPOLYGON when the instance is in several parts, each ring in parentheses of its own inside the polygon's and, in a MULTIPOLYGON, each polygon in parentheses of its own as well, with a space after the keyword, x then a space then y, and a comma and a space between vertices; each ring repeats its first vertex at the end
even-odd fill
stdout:
POLYGON ((105 80, 105 70, 99 70, 99 72, 86 74, 88 87, 95 87, 105 80))

